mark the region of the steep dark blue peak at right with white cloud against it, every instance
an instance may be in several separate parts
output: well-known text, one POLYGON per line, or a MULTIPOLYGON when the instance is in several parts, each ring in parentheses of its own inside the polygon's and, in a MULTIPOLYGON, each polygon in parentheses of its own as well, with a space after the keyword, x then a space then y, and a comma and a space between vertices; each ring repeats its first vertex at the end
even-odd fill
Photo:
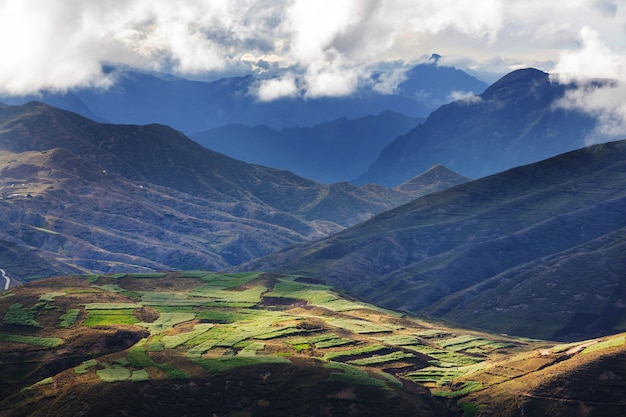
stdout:
POLYGON ((595 119, 556 106, 568 88, 574 86, 536 69, 514 71, 431 113, 389 144, 357 183, 392 187, 439 163, 480 178, 581 148, 595 119))

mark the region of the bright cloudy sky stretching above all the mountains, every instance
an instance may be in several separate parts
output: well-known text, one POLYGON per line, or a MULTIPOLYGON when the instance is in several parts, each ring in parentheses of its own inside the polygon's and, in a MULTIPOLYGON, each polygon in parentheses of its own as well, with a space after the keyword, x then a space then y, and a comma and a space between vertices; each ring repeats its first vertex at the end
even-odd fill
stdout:
POLYGON ((260 100, 392 93, 433 53, 487 82, 525 67, 620 80, 562 105, 626 126, 626 0, 0 0, 4 95, 107 88, 104 66, 253 74, 260 100))

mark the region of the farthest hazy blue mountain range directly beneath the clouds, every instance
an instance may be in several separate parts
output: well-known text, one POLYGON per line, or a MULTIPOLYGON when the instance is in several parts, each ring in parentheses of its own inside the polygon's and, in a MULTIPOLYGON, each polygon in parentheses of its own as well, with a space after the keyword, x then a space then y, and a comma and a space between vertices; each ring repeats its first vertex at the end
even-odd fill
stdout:
MULTIPOLYGON (((254 91, 261 82, 252 76, 216 81, 191 81, 168 74, 108 69, 115 84, 107 90, 83 88, 68 93, 44 92, 28 97, 1 97, 7 104, 43 101, 98 121, 122 124, 160 123, 186 134, 202 132, 226 124, 268 125, 275 129, 306 127, 346 117, 355 119, 384 111, 426 117, 455 90, 479 93, 486 85, 451 68, 422 64, 409 73, 402 93, 379 93, 371 86, 348 97, 291 97, 263 102, 254 91), (426 65, 428 82, 414 91, 411 77, 424 77, 417 70, 426 65), (454 75, 454 77, 451 76, 454 75), (450 85, 446 89, 446 85, 450 85), (437 85, 431 92, 429 85, 437 85), (421 89, 425 90, 422 91, 421 89), (444 98, 442 98, 444 97, 444 98)), ((449 99, 448 99, 449 101, 449 99)))

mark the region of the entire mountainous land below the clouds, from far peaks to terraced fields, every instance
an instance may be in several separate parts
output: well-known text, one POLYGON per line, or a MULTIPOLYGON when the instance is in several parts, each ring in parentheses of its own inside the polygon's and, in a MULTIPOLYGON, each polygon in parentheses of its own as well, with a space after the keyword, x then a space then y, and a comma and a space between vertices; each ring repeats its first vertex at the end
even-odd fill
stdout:
POLYGON ((582 147, 541 71, 449 104, 443 72, 483 91, 431 62, 390 96, 0 104, 0 415, 621 416, 626 142, 582 147), (168 114, 197 142, 106 122, 168 114))

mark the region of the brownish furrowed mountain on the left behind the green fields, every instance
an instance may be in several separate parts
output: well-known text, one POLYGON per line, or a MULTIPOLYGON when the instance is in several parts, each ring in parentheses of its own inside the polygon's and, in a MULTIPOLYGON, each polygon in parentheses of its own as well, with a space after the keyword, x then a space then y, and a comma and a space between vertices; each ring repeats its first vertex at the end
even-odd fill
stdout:
POLYGON ((0 105, 0 167, 0 238, 57 265, 56 273, 3 265, 24 280, 226 268, 410 198, 322 185, 228 158, 166 126, 101 124, 37 102, 0 105))

